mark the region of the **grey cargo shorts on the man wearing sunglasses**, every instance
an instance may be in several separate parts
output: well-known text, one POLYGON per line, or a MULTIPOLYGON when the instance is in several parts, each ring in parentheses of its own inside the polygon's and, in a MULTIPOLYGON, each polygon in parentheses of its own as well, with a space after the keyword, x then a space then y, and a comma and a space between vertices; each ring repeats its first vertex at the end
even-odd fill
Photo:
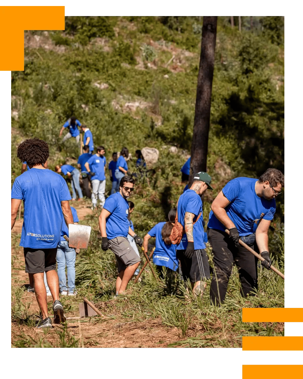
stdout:
POLYGON ((126 237, 118 236, 112 238, 109 242, 112 252, 116 255, 118 273, 125 270, 128 266, 141 262, 140 257, 138 257, 126 237))

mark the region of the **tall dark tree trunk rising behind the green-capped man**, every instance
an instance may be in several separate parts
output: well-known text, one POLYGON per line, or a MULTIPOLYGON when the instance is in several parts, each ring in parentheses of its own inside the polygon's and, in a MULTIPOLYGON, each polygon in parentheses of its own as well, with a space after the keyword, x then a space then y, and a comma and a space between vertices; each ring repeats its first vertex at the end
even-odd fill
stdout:
POLYGON ((217 16, 204 16, 195 105, 194 132, 192 136, 189 186, 192 184, 196 172, 206 171, 216 34, 217 16))

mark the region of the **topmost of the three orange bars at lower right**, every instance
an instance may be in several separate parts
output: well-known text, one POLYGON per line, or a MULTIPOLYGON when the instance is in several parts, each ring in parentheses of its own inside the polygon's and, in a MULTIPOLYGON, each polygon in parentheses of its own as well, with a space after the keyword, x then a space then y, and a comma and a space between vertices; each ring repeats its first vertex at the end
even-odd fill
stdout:
POLYGON ((243 308, 244 323, 302 323, 303 308, 243 308))

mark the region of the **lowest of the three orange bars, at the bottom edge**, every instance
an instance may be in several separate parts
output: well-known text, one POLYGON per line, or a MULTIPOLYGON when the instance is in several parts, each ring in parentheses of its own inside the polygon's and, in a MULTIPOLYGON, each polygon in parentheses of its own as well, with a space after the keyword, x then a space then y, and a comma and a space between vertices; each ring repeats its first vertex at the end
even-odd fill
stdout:
POLYGON ((242 365, 242 379, 303 377, 303 365, 242 365), (256 374, 258 373, 258 375, 256 374))

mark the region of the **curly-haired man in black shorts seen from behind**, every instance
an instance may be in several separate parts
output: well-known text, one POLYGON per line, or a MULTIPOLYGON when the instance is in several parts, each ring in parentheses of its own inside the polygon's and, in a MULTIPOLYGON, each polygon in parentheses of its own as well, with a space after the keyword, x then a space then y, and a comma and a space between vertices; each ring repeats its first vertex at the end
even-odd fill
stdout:
POLYGON ((23 200, 24 216, 20 246, 23 247, 25 272, 34 282, 34 290, 42 319, 37 328, 52 327, 48 317, 44 271, 53 297, 54 323, 66 320, 59 302, 59 284, 56 273, 57 246, 60 241, 62 213, 66 225, 73 224, 70 193, 65 180, 43 164, 49 156, 48 144, 38 138, 26 139, 17 149, 21 162, 27 161, 30 170, 18 176, 11 190, 11 229, 23 200))

